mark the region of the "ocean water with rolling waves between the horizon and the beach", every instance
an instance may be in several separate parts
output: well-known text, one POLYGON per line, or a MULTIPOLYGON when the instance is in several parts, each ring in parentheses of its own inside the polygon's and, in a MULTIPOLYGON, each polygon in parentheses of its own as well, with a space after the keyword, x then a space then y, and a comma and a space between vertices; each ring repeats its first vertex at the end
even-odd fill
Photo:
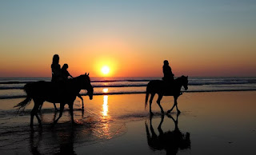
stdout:
MULTIPOLYGON (((145 93, 146 85, 150 80, 162 78, 90 78, 94 86, 94 95, 145 93)), ((26 97, 23 86, 34 81, 50 81, 50 78, 0 78, 0 99, 26 97)), ((191 92, 216 91, 248 91, 256 90, 256 78, 216 77, 216 78, 189 78, 191 92)), ((86 90, 81 90, 86 95, 86 90)))

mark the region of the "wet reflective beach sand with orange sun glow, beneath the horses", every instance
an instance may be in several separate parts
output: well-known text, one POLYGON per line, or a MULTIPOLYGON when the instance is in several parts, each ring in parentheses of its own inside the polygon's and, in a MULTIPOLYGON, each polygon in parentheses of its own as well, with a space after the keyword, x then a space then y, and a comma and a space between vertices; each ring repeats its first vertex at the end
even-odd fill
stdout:
MULTIPOLYGON (((154 98, 153 112, 144 110, 145 94, 83 97, 74 102, 71 125, 66 111, 51 125, 54 106, 45 102, 29 127, 30 109, 16 115, 22 98, 0 100, 0 154, 256 154, 256 91, 183 93, 176 109, 162 115, 154 98)), ((173 97, 163 97, 165 111, 173 97)))

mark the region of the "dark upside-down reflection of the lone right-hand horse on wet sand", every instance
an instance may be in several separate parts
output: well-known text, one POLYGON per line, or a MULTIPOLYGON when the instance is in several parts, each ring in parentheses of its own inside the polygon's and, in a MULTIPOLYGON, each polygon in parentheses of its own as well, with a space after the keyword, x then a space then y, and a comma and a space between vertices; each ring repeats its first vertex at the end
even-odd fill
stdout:
POLYGON ((176 154, 178 153, 178 149, 190 149, 190 133, 183 134, 179 129, 178 129, 178 115, 176 121, 174 120, 173 117, 171 117, 169 114, 167 115, 170 117, 175 124, 175 128, 173 131, 167 131, 163 132, 162 131, 162 122, 164 119, 164 115, 162 115, 162 119, 160 124, 158 125, 158 132, 159 135, 157 135, 154 132, 154 128, 152 126, 152 116, 150 117, 150 129, 146 125, 146 137, 147 137, 147 143, 150 146, 150 149, 157 149, 157 150, 166 150, 166 154, 176 154), (151 132, 151 135, 150 135, 151 132))

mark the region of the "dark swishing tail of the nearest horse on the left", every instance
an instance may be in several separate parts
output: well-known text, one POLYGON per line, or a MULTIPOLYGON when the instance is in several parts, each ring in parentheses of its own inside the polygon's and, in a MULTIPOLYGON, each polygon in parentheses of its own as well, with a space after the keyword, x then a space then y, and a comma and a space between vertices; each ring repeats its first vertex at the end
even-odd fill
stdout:
POLYGON ((26 99, 20 103, 18 103, 18 105, 15 105, 14 108, 17 108, 17 113, 22 109, 22 111, 26 108, 26 105, 30 104, 30 101, 32 100, 31 97, 31 88, 30 88, 31 84, 26 84, 24 86, 24 91, 26 92, 26 99))

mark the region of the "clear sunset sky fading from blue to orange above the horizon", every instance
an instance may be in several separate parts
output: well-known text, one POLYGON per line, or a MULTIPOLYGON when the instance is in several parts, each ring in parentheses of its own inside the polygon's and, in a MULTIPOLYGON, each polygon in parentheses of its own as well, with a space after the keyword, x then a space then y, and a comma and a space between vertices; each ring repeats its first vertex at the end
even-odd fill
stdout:
POLYGON ((256 1, 0 1, 0 77, 255 77, 256 1), (102 74, 103 66, 110 68, 102 74))

